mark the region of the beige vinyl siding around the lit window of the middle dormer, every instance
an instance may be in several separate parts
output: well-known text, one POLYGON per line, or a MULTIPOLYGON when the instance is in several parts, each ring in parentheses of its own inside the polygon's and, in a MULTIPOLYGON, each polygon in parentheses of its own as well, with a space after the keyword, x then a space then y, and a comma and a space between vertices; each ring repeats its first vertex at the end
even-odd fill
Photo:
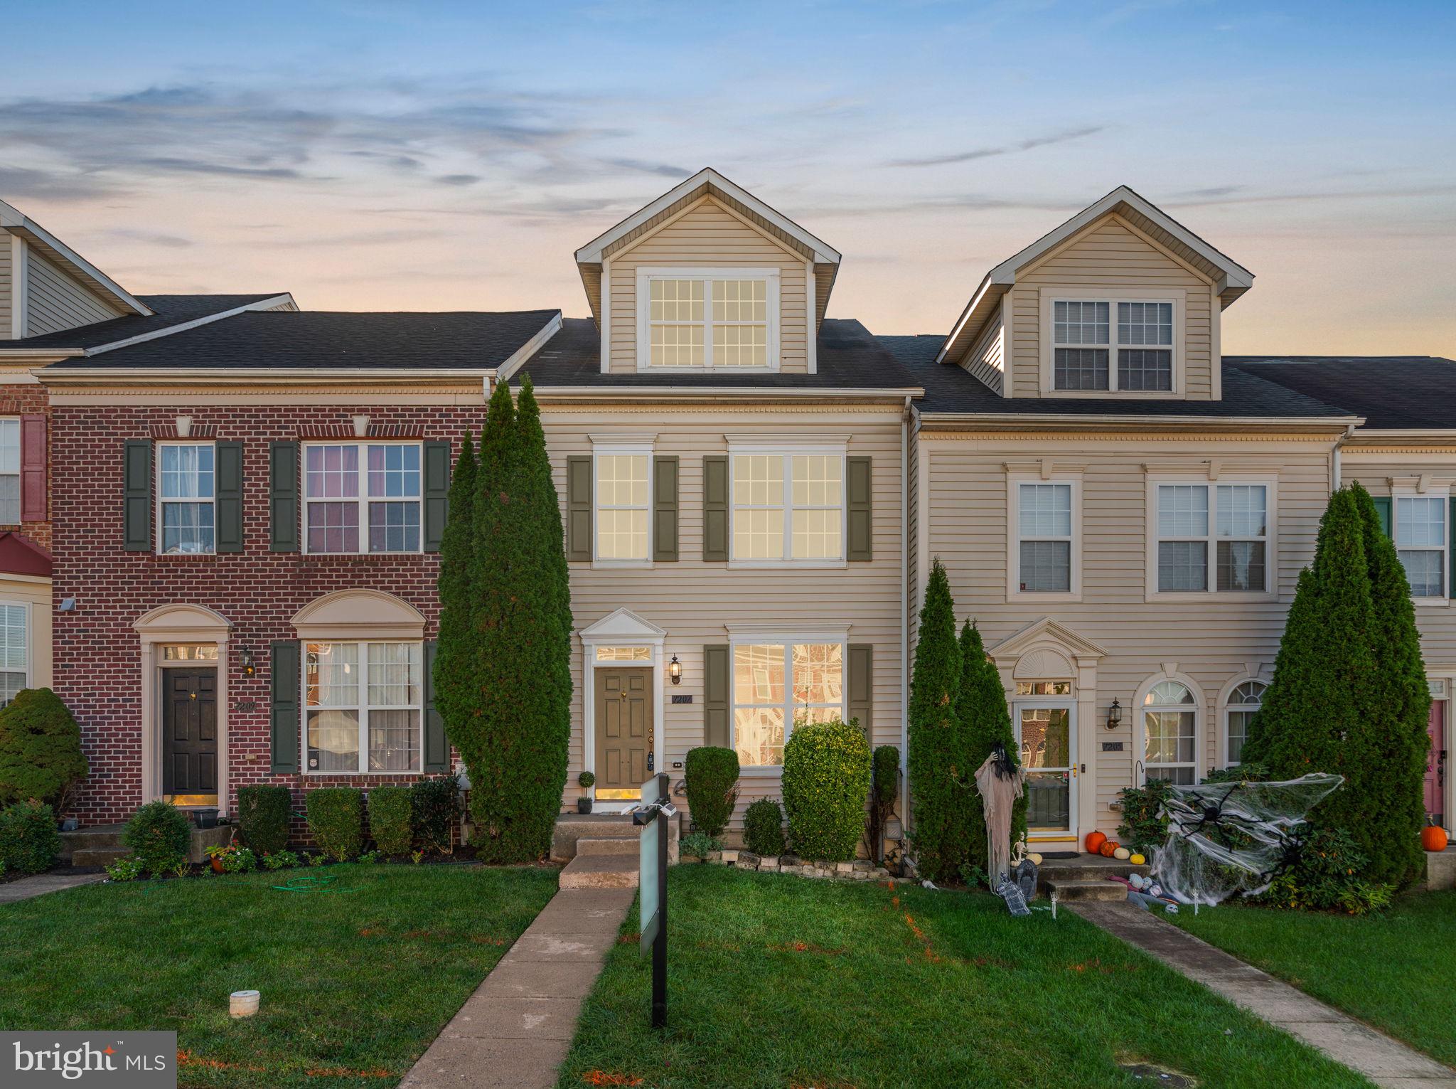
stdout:
POLYGON ((779 370, 808 371, 808 268, 798 253, 703 198, 677 218, 610 258, 612 370, 638 368, 638 268, 778 268, 779 370))

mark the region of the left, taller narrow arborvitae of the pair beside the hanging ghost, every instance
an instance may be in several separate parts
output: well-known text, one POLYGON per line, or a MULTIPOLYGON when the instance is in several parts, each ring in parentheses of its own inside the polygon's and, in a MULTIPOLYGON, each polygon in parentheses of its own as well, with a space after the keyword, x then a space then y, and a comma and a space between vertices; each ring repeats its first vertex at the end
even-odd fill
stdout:
MULTIPOLYGON (((965 825, 967 769, 960 745, 955 697, 961 690, 961 648, 955 642, 955 601, 941 561, 925 587, 914 667, 910 676, 909 753, 911 843, 923 876, 958 875, 970 855, 965 825)), ((976 769, 970 769, 974 773, 976 769)))

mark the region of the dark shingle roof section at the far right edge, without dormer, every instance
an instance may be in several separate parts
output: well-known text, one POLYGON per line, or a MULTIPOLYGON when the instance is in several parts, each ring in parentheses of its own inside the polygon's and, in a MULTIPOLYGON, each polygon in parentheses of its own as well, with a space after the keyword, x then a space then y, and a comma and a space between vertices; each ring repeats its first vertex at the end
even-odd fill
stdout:
POLYGON ((1369 428, 1456 428, 1456 363, 1439 355, 1224 355, 1223 365, 1342 405, 1369 428))

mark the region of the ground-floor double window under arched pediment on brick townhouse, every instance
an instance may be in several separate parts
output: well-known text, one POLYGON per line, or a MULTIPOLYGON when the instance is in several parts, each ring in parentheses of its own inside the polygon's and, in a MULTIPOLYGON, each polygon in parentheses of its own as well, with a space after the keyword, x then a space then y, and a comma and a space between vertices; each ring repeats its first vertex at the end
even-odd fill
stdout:
POLYGON ((309 770, 418 772, 424 668, 418 642, 310 642, 303 696, 309 770))

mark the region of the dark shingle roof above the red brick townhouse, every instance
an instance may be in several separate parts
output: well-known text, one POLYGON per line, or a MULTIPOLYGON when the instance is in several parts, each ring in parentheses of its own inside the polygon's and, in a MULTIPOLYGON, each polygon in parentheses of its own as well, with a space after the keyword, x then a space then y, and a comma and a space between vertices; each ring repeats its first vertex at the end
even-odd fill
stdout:
POLYGON ((55 367, 489 370, 558 313, 248 312, 55 367))

